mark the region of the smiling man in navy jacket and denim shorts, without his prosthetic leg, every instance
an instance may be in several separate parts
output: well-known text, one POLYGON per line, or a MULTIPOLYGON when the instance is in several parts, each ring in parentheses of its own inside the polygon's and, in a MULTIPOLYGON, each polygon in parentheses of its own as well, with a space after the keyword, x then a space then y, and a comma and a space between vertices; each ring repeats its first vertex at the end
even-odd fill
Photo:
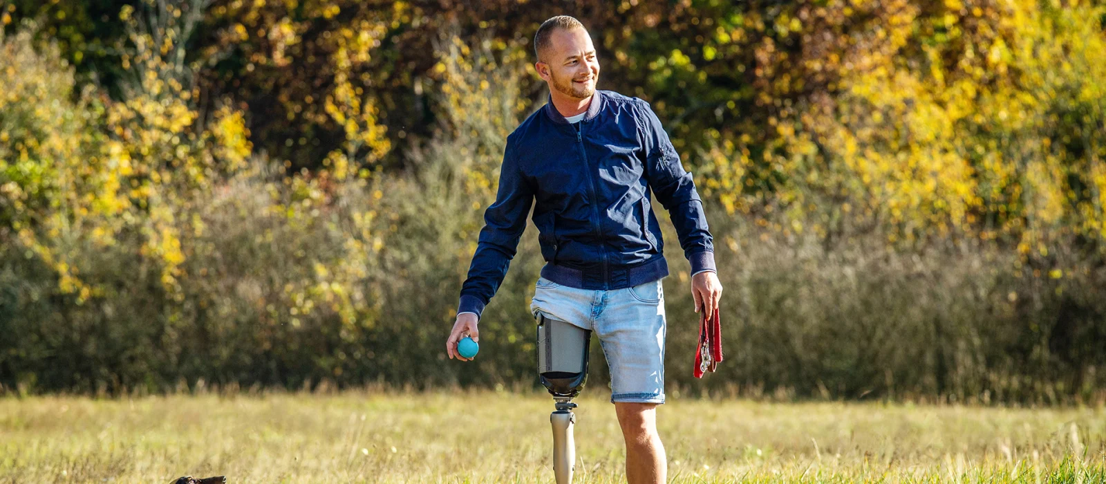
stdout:
POLYGON ((713 239, 691 175, 684 170, 648 103, 596 91, 592 39, 572 17, 534 35, 534 69, 550 101, 508 136, 495 202, 461 287, 450 358, 477 323, 514 257, 534 206, 542 269, 530 309, 593 330, 611 366, 612 396, 626 441, 630 483, 665 482, 656 408, 664 403, 664 292, 668 275, 649 189, 671 214, 691 263, 696 311, 718 311, 722 286, 713 239))

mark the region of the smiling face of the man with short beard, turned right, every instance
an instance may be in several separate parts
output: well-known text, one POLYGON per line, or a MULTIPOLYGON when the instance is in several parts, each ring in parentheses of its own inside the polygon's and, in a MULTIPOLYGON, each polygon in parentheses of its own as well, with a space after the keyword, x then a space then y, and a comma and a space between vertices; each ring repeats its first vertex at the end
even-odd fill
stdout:
POLYGON ((592 36, 584 29, 557 29, 550 36, 551 45, 535 69, 551 90, 583 99, 595 94, 599 80, 599 60, 595 56, 592 36), (542 62, 544 61, 544 62, 542 62))

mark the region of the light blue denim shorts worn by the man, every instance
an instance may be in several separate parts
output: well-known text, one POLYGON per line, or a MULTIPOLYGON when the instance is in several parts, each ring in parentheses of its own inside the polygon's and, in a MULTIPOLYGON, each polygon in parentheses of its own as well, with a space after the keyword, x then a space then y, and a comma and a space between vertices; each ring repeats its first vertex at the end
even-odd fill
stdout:
POLYGON ((611 368, 611 402, 665 402, 665 290, 660 280, 612 291, 539 277, 530 313, 589 329, 611 368))

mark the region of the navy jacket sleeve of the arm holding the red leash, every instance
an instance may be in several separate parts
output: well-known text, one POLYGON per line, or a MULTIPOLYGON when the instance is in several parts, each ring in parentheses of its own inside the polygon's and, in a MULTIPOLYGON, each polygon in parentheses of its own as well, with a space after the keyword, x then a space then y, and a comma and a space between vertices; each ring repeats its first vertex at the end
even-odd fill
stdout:
POLYGON ((710 235, 702 199, 695 189, 691 173, 684 170, 676 148, 649 104, 636 101, 646 180, 657 200, 671 214, 684 256, 691 263, 691 274, 718 272, 714 267, 714 239, 710 235))

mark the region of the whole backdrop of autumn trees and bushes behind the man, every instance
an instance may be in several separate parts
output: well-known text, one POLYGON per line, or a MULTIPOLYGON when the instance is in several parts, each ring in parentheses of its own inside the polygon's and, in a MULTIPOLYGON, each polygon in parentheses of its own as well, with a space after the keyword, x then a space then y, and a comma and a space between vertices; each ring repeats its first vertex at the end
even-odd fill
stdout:
POLYGON ((1106 400, 1106 10, 1026 0, 9 0, 0 388, 536 385, 533 228, 442 343, 560 13, 708 201, 727 360, 665 224, 671 390, 1106 400))

